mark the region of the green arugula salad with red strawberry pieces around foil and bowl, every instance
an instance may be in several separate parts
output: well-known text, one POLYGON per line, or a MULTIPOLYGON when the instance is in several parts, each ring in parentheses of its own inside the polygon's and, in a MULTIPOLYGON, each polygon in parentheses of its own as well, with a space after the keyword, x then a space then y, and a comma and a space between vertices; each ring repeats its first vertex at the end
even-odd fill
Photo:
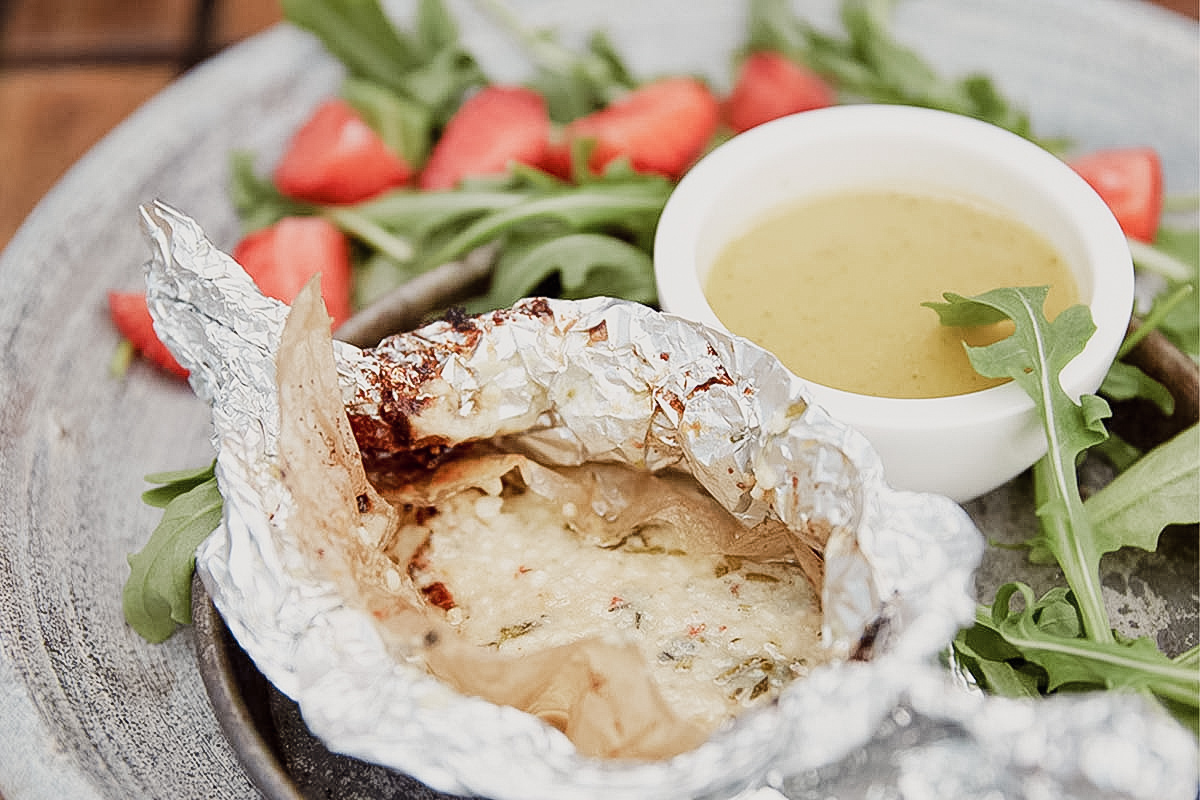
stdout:
MULTIPOLYGON (((654 305, 650 248, 668 194, 690 163, 746 127, 833 102, 883 102, 974 116, 1038 142, 1109 201, 1140 276, 1157 291, 1099 396, 1078 403, 1058 374, 1092 335, 1085 307, 1048 321, 1045 288, 1006 287, 926 303, 947 325, 1015 324, 1008 338, 968 355, 980 374, 1019 384, 1040 411, 1050 449, 1033 468, 1037 523, 1025 547, 1031 561, 1056 565, 1063 576, 1063 585, 1042 596, 1019 579, 1002 585, 948 646, 947 661, 998 694, 1141 692, 1198 732, 1200 649, 1169 656, 1151 638, 1116 633, 1100 591, 1103 555, 1154 551, 1168 527, 1200 522, 1195 423, 1148 447, 1105 427, 1108 401, 1142 398, 1164 415, 1174 410, 1170 391, 1127 357, 1144 337, 1164 336, 1192 366, 1200 361, 1200 235, 1159 224, 1157 156, 1130 148, 1075 160, 1068 142, 1038 138, 1028 115, 986 76, 944 78, 898 41, 888 0, 844 0, 838 30, 814 26, 786 0, 749 0, 745 42, 732 54, 733 88, 724 97, 690 76, 635 76, 604 34, 575 52, 523 26, 498 1, 480 5, 528 55, 526 85, 491 85, 439 0, 419 2, 409 29, 389 19, 378 0, 283 0, 287 19, 346 66, 344 103, 322 109, 324 121, 314 116, 298 133, 292 146, 304 157, 294 169, 281 164, 264 175, 252 154, 233 155, 232 199, 247 241, 275 236, 272 245, 286 248, 281 221, 325 225, 344 251, 341 289, 359 308, 490 245, 491 278, 466 301, 469 312, 533 294, 654 305), (346 125, 366 126, 374 150, 319 150, 340 140, 337 126, 346 125), (478 131, 490 133, 487 148, 472 136, 478 131), (1100 188, 1112 181, 1116 193, 1100 188), (1086 500, 1076 476, 1085 458, 1108 461, 1116 475, 1086 500)), ((1195 211, 1194 199, 1166 204, 1169 212, 1176 205, 1195 211)), ((318 267, 334 271, 329 263, 318 267)), ((280 269, 270 264, 264 273, 280 269)), ((338 289, 337 281, 323 283, 338 289)), ((211 465, 148 481, 156 486, 144 500, 163 516, 130 557, 124 604, 130 625, 161 642, 190 622, 194 552, 220 523, 222 499, 211 465)))

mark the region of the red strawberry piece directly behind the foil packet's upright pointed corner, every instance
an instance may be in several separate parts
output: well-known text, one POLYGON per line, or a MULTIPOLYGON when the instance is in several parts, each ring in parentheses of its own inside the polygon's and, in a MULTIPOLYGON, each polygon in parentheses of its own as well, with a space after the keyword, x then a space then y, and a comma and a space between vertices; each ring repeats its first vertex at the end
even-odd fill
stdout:
POLYGON ((292 302, 308 279, 320 273, 320 293, 334 326, 350 313, 350 246, 323 217, 286 217, 256 230, 233 251, 263 294, 292 302))

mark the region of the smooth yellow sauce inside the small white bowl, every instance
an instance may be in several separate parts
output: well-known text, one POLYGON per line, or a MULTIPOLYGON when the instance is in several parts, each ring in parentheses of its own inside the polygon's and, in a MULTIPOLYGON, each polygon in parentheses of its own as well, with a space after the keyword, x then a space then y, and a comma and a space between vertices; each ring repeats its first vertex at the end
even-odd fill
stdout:
POLYGON ((946 397, 1002 383, 974 372, 962 341, 1006 331, 946 327, 920 303, 1021 285, 1050 287, 1049 319, 1078 302, 1069 267, 1024 223, 955 199, 862 192, 763 219, 718 255, 704 294, 727 329, 805 379, 946 397))

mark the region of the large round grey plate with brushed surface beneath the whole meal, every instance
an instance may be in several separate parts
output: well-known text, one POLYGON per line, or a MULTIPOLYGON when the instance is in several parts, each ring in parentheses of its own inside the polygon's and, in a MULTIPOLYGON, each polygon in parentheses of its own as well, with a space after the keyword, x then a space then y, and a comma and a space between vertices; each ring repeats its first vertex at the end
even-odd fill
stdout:
MULTIPOLYGON (((485 66, 520 78, 508 43, 464 4, 451 5, 485 66)), ((512 5, 564 31, 606 26, 643 74, 689 68, 720 79, 740 36, 739 6, 715 0, 512 5)), ((818 20, 832 17, 827 0, 804 8, 818 20)), ((1038 131, 1068 134, 1082 149, 1153 145, 1168 188, 1198 191, 1194 23, 1133 0, 910 0, 896 30, 949 73, 996 76, 1032 109, 1038 131)), ((142 366, 122 380, 108 375, 116 335, 104 291, 138 284, 149 252, 137 222, 143 201, 167 200, 232 246, 228 152, 248 148, 266 164, 337 79, 336 66, 288 29, 234 48, 101 143, 0 258, 0 794, 7 800, 256 795, 241 763, 247 751, 230 744, 200 679, 202 632, 149 645, 121 619, 126 554, 156 523, 138 499, 143 475, 205 463, 211 450, 206 409, 184 386, 142 366)), ((1015 537, 1028 524, 1027 487, 1019 480, 971 510, 990 535, 1015 537)), ((1169 558, 1153 565, 1127 559, 1106 591, 1122 626, 1166 631, 1175 650, 1195 640, 1195 545, 1172 541, 1165 549, 1169 558), (1187 588, 1190 602, 1174 600, 1164 581, 1187 588)), ((1012 566, 995 565, 997 575, 1012 566)), ((989 581, 980 578, 985 591, 989 581)))

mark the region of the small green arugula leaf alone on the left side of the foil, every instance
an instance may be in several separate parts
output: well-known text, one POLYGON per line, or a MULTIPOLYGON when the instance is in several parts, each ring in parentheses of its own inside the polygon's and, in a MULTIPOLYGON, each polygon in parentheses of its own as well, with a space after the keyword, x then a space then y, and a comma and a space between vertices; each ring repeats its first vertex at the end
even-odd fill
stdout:
POLYGON ((130 626, 148 642, 163 642, 192 620, 196 548, 221 523, 223 501, 212 467, 151 475, 162 486, 146 503, 163 509, 150 541, 128 557, 121 604, 130 626))

